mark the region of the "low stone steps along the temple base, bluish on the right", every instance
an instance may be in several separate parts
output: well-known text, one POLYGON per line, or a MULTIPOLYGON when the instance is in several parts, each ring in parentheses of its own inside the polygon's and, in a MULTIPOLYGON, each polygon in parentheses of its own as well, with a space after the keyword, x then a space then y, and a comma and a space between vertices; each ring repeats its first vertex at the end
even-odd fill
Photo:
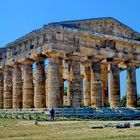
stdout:
MULTIPOLYGON (((0 118, 49 120, 49 109, 1 109, 0 118)), ((140 109, 55 108, 56 120, 140 120, 140 109)))

